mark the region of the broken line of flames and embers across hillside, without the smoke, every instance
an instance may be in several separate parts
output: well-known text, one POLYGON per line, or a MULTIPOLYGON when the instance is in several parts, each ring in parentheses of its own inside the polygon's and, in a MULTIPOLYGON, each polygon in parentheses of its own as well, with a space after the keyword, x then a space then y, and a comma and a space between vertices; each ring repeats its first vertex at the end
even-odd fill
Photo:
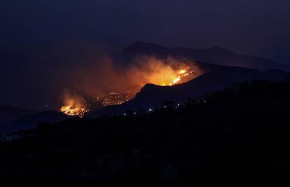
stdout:
MULTIPOLYGON (((172 86, 191 81, 195 78, 194 76, 191 76, 194 72, 195 70, 192 67, 179 69, 174 71, 174 74, 170 75, 170 81, 165 82, 164 80, 160 80, 159 82, 162 82, 162 84, 159 85, 172 86)), ((163 76, 161 75, 160 77, 162 78, 163 76)), ((131 90, 126 90, 122 93, 111 93, 110 95, 106 95, 104 97, 97 97, 95 100, 102 106, 123 104, 124 102, 134 99, 135 95, 137 95, 140 90, 141 88, 134 88, 131 90)), ((83 99, 74 100, 70 98, 67 101, 64 101, 64 106, 60 108, 60 111, 68 116, 78 116, 82 118, 85 116, 85 113, 90 111, 89 105, 90 104, 87 104, 83 99)))

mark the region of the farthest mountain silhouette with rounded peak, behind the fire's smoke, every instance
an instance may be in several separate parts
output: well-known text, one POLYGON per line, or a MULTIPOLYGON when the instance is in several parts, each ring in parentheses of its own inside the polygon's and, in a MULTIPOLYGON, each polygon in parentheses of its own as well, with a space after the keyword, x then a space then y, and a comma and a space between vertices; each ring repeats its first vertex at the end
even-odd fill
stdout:
POLYGON ((239 55, 220 47, 206 49, 167 48, 153 43, 136 42, 127 46, 122 55, 126 60, 132 60, 138 55, 154 55, 159 58, 186 57, 191 60, 218 64, 223 66, 246 67, 250 69, 280 69, 289 71, 290 66, 272 60, 266 60, 251 55, 239 55))

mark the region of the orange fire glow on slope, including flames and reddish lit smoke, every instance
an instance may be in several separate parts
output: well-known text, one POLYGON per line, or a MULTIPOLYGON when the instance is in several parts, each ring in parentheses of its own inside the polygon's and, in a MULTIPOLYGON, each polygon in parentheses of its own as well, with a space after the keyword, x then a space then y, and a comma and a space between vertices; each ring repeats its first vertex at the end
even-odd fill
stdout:
MULTIPOLYGON (((98 69, 102 69, 102 71, 96 73, 94 68, 90 68, 94 70, 92 74, 90 74, 90 69, 89 73, 85 71, 83 80, 88 80, 88 83, 83 84, 85 86, 77 90, 89 91, 89 93, 86 92, 88 96, 92 99, 95 98, 95 101, 102 106, 122 104, 134 99, 137 92, 146 83, 172 86, 191 81, 202 74, 202 70, 193 62, 180 62, 174 59, 164 62, 154 57, 146 58, 127 69, 115 69, 112 64, 105 62, 100 64, 102 65, 98 69), (114 93, 109 94, 110 92, 114 93)), ((83 117, 90 111, 88 109, 90 104, 87 104, 83 97, 69 93, 64 95, 63 99, 64 105, 60 108, 62 113, 83 117)))

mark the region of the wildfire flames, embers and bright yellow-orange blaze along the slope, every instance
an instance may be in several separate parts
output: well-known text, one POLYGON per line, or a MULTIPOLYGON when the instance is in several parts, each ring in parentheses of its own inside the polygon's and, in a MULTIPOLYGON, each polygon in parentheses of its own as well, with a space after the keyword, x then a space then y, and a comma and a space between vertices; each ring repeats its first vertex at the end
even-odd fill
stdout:
MULTIPOLYGON (((139 71, 136 71, 136 73, 138 72, 139 71)), ((151 74, 146 74, 143 77, 146 78, 144 83, 172 86, 185 83, 186 81, 191 81, 196 76, 193 74, 194 72, 194 69, 191 67, 172 69, 172 67, 165 66, 164 68, 164 66, 160 66, 160 68, 156 68, 156 71, 153 71, 151 74)), ((113 92, 110 95, 97 97, 95 102, 101 104, 102 106, 123 104, 124 102, 134 99, 135 95, 137 95, 141 89, 141 84, 138 87, 136 89, 127 90, 121 93, 113 92)), ((74 94, 71 95, 70 93, 69 95, 64 96, 64 106, 60 108, 60 111, 68 116, 79 116, 82 118, 85 116, 85 113, 90 111, 90 109, 88 109, 90 104, 91 103, 87 104, 85 99, 82 97, 74 94)))

